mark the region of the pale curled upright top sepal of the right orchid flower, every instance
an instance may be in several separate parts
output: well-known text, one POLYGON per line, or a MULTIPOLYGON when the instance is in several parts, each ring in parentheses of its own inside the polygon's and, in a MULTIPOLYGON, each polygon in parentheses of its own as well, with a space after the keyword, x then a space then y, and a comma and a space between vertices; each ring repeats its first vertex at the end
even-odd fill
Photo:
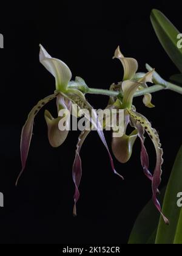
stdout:
POLYGON ((119 59, 124 68, 123 80, 130 80, 135 76, 138 69, 138 62, 133 58, 126 58, 120 51, 120 46, 115 51, 113 59, 119 59))

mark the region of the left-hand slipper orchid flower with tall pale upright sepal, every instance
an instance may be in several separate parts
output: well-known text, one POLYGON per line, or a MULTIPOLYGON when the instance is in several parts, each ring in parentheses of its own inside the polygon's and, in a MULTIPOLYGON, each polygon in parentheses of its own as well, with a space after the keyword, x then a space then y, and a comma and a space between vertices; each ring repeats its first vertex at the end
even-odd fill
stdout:
MULTIPOLYGON (((42 65, 55 77, 56 91, 52 95, 47 96, 46 98, 39 101, 38 104, 36 104, 35 107, 32 108, 27 118, 27 121, 22 127, 22 132, 21 132, 22 169, 18 176, 18 179, 16 180, 16 185, 18 183, 19 177, 21 176, 22 172, 25 169, 25 164, 27 161, 27 156, 30 148, 30 142, 32 139, 33 122, 34 122, 35 116, 39 112, 39 110, 41 110, 41 108, 44 107, 45 104, 52 101, 53 99, 56 99, 58 112, 62 108, 70 111, 72 109, 72 104, 76 104, 78 108, 86 108, 87 110, 89 110, 89 112, 94 113, 95 118, 91 119, 90 115, 87 115, 87 114, 85 114, 85 116, 90 121, 90 123, 92 123, 92 126, 96 128, 98 135, 101 138, 101 141, 103 141, 103 144, 109 154, 112 170, 115 174, 118 174, 118 172, 115 171, 112 156, 110 155, 103 130, 101 129, 101 124, 98 121, 98 115, 95 112, 95 110, 93 110, 89 102, 86 101, 84 93, 82 93, 80 90, 77 89, 77 88, 82 88, 83 89, 82 91, 87 90, 87 85, 85 84, 84 80, 81 79, 81 77, 76 77, 75 81, 71 81, 72 73, 69 67, 61 60, 51 57, 41 45, 40 45, 40 52, 39 52, 39 60, 42 63, 42 65), (77 86, 77 88, 75 88, 75 85, 77 86)), ((48 127, 48 138, 51 146, 53 147, 60 146, 62 143, 64 143, 68 134, 67 130, 64 130, 64 131, 59 130, 58 123, 61 117, 58 116, 57 118, 53 118, 53 116, 50 114, 48 110, 45 110, 44 117, 48 127)), ((64 118, 66 118, 67 122, 70 121, 69 115, 64 116, 64 118)), ((73 181, 75 183, 75 196, 74 196, 75 206, 73 209, 74 215, 76 215, 76 202, 78 201, 78 198, 79 198, 78 187, 79 187, 79 182, 81 180, 81 174, 82 174, 81 158, 79 156, 79 151, 88 134, 89 132, 84 131, 79 136, 78 144, 76 147, 75 161, 73 163, 73 181)), ((120 176, 120 174, 118 175, 120 176)))

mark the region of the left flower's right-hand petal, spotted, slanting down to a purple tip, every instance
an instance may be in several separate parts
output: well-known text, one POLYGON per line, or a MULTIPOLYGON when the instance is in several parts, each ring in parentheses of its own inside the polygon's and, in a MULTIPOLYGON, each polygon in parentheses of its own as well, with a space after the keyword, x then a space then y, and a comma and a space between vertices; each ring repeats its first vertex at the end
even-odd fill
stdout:
MULTIPOLYGON (((79 91, 79 93, 80 93, 80 91, 79 91)), ((70 91, 68 91, 67 94, 62 93, 62 95, 65 98, 70 99, 70 101, 72 101, 74 104, 77 104, 79 108, 89 110, 90 115, 92 113, 92 118, 90 117, 90 115, 87 115, 87 113, 85 114, 85 117, 90 121, 90 123, 93 124, 93 126, 95 127, 95 129, 98 132, 99 137, 101 138, 101 141, 103 142, 105 148, 107 149, 107 152, 108 152, 109 158, 110 158, 110 164, 112 166, 113 172, 123 179, 123 177, 120 174, 118 174, 118 172, 116 172, 115 167, 113 165, 113 159, 110 154, 109 148, 107 146, 106 138, 104 137, 103 127, 101 127, 101 124, 99 122, 99 118, 98 118, 96 111, 89 104, 89 102, 87 102, 84 98, 82 98, 79 94, 77 94, 77 90, 70 90, 70 91)))

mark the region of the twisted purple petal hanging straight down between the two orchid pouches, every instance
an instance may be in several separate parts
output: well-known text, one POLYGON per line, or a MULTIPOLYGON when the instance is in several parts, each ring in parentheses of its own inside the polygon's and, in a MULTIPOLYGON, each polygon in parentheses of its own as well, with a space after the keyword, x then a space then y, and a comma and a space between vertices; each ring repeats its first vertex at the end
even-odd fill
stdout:
POLYGON ((73 176, 73 182, 75 183, 75 194, 74 194, 74 202, 75 205, 73 207, 73 215, 76 216, 76 202, 79 199, 79 183, 81 181, 82 176, 82 167, 81 167, 81 157, 79 155, 79 152, 81 150, 81 146, 84 143, 84 140, 86 139, 87 135, 89 135, 90 130, 84 130, 81 132, 81 134, 78 137, 78 143, 76 145, 76 154, 75 154, 75 160, 73 163, 73 169, 72 169, 72 176, 73 176))

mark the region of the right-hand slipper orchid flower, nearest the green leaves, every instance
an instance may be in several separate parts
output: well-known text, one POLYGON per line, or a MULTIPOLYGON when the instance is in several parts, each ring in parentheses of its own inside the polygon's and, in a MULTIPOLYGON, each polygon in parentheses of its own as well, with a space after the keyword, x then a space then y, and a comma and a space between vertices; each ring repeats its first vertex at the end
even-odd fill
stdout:
MULTIPOLYGON (((157 130, 153 129, 147 118, 140 113, 136 112, 135 107, 132 105, 133 96, 136 90, 147 87, 147 82, 152 82, 153 70, 146 73, 143 77, 136 81, 135 74, 138 69, 138 63, 135 59, 125 58, 121 54, 120 48, 118 47, 115 51, 114 58, 121 61, 124 68, 123 82, 121 82, 119 90, 122 92, 123 98, 116 99, 113 103, 113 107, 124 109, 124 135, 122 137, 112 138, 112 151, 115 157, 121 163, 126 163, 132 155, 133 144, 135 143, 136 137, 140 138, 141 141, 141 165, 143 166, 144 174, 152 181, 153 191, 153 203, 161 213, 161 206, 157 199, 158 187, 161 183, 161 166, 163 164, 163 149, 161 148, 160 138, 157 130), (130 124, 134 128, 130 135, 126 135, 127 126, 130 124), (157 155, 157 163, 153 176, 149 171, 149 157, 144 146, 144 132, 146 132, 155 147, 157 155)), ((113 90, 112 85, 112 90, 113 90)), ((116 86, 118 87, 118 85, 116 86)), ((148 107, 153 105, 150 102, 151 97, 146 95, 143 99, 144 104, 148 107)), ((169 224, 167 218, 161 213, 166 224, 169 224)))

